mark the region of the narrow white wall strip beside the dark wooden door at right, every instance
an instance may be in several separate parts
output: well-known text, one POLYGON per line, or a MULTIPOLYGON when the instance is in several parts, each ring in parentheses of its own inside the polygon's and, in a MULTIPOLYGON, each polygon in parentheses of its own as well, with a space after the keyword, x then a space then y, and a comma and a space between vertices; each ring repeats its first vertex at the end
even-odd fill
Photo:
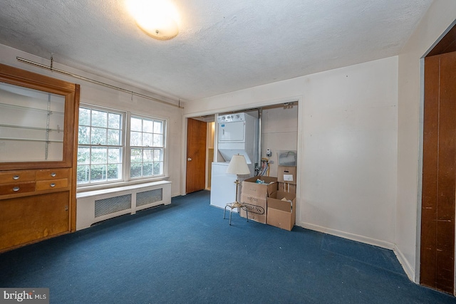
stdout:
POLYGON ((399 56, 397 252, 419 281, 423 58, 455 21, 456 1, 435 0, 399 56))

